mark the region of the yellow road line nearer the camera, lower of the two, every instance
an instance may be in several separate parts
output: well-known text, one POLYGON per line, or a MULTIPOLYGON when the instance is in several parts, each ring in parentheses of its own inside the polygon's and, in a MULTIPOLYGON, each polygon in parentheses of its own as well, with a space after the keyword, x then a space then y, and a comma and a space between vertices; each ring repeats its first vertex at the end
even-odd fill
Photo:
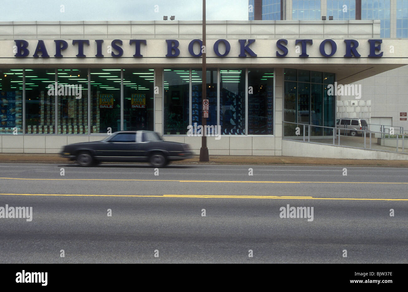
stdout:
POLYGON ((155 197, 155 198, 239 198, 239 199, 286 199, 286 200, 359 200, 359 201, 408 201, 386 198, 314 198, 309 196, 252 196, 252 195, 80 195, 80 194, 0 194, 10 196, 84 196, 84 197, 155 197))

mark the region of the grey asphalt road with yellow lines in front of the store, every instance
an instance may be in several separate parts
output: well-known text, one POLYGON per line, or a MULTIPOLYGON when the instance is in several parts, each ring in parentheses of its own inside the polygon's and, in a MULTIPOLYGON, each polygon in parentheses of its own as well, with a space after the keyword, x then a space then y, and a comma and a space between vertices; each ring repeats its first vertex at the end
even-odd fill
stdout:
POLYGON ((2 163, 0 263, 408 263, 408 168, 343 168, 2 163))

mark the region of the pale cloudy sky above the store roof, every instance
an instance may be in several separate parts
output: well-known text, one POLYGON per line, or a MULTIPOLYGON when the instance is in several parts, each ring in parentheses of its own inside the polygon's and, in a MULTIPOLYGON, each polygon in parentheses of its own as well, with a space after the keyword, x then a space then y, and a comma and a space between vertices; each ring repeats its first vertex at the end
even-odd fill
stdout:
MULTIPOLYGON (((0 21, 202 20, 202 0, 0 0, 0 15, 0 21)), ((206 0, 206 20, 248 20, 248 0, 206 0)))

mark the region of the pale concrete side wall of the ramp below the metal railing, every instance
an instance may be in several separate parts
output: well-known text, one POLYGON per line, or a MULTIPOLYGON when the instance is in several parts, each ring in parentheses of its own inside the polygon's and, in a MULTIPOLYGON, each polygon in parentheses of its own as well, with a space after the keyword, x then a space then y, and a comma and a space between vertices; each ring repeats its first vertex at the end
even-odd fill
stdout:
POLYGON ((408 154, 282 139, 283 156, 408 160, 408 154))

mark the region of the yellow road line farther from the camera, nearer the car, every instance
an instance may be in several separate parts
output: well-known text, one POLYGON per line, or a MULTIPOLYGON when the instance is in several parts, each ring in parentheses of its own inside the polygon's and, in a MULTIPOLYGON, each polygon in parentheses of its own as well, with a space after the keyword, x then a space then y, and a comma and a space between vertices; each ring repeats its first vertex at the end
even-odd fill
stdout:
POLYGON ((204 180, 171 180, 171 179, 109 179, 109 178, 11 178, 0 177, 0 179, 15 179, 27 181, 173 181, 179 183, 366 183, 366 184, 408 184, 389 182, 351 182, 351 181, 204 181, 204 180))

